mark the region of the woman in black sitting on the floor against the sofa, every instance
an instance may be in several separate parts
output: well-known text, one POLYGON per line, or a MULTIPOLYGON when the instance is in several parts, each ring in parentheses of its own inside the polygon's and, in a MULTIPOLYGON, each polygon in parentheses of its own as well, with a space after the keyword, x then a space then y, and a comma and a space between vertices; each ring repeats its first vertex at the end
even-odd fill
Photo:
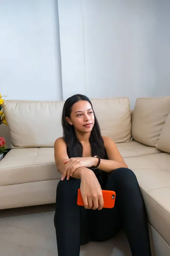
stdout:
POLYGON ((63 137, 54 143, 57 170, 56 228, 58 256, 79 256, 80 244, 105 241, 123 227, 132 256, 151 256, 147 217, 139 184, 116 144, 102 137, 88 97, 65 101, 63 137), (84 207, 77 205, 81 189, 84 207), (102 189, 116 192, 115 207, 103 208, 102 189))

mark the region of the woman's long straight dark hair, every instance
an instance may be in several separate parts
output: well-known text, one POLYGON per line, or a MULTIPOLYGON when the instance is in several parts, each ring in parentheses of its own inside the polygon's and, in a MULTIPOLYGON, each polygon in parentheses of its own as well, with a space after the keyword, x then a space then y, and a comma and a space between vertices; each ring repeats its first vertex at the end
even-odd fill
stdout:
MULTIPOLYGON (((80 101, 84 100, 91 104, 91 108, 93 109, 92 103, 88 97, 76 94, 71 96, 65 101, 63 111, 62 111, 62 128, 63 128, 63 137, 65 140, 65 143, 67 145, 67 153, 68 157, 82 157, 82 143, 78 140, 75 129, 73 125, 70 125, 65 117, 70 117, 72 106, 80 101)), ((93 111, 94 112, 94 111, 93 111)), ((96 119, 95 113, 94 113, 94 127, 91 131, 89 142, 91 144, 91 154, 92 156, 98 155, 100 158, 105 159, 106 158, 106 151, 105 146, 103 142, 103 138, 100 132, 99 122, 96 119)))

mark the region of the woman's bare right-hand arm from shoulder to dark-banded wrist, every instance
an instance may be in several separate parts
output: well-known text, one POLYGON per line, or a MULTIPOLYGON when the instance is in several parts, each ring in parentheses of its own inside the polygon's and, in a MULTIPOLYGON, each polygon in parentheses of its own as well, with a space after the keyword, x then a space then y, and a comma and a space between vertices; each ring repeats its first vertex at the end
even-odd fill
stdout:
POLYGON ((101 159, 99 169, 104 172, 112 172, 120 167, 128 168, 113 140, 105 136, 103 136, 103 140, 109 160, 101 159))

